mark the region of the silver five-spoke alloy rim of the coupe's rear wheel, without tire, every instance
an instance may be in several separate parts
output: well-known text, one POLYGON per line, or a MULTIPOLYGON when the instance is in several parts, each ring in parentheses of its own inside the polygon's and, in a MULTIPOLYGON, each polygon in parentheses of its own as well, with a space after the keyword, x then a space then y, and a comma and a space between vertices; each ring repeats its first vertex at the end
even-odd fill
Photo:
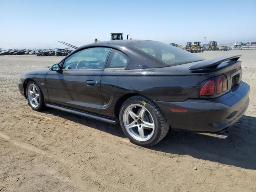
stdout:
POLYGON ((147 141, 154 134, 155 124, 152 115, 140 104, 127 106, 123 120, 128 134, 138 141, 147 141))

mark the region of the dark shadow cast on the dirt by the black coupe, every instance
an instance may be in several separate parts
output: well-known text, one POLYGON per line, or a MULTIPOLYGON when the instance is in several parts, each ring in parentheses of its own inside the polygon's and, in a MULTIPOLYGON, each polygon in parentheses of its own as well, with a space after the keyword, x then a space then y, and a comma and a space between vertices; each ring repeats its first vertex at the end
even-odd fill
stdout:
MULTIPOLYGON (((125 137, 120 125, 112 125, 55 109, 46 109, 43 113, 60 116, 84 126, 108 132, 122 138, 125 137)), ((170 154, 190 155, 198 159, 255 170, 255 125, 256 118, 243 116, 239 123, 228 130, 230 136, 225 140, 170 130, 162 141, 155 146, 149 147, 149 149, 170 154)))

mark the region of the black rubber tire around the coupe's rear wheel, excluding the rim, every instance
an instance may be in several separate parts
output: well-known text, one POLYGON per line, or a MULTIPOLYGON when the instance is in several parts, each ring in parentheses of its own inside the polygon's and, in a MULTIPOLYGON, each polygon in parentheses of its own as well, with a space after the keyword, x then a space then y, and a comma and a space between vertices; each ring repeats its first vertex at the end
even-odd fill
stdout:
POLYGON ((152 100, 150 100, 144 96, 140 96, 140 95, 128 98, 122 104, 120 113, 119 113, 119 120, 120 120, 120 125, 121 125, 122 130, 123 130, 124 134, 126 135, 126 137, 129 138, 130 142, 132 142, 136 145, 139 145, 139 146, 143 146, 143 147, 149 147, 149 146, 157 144, 160 140, 162 140, 166 136, 166 134, 169 130, 168 121, 164 117, 164 114, 162 113, 160 108, 158 106, 156 106, 156 104, 152 100), (123 120, 124 111, 130 104, 140 104, 141 105, 142 102, 146 102, 144 107, 150 112, 150 114, 154 120, 154 123, 155 123, 154 134, 147 141, 138 141, 138 140, 134 139, 132 136, 130 136, 130 134, 127 132, 127 130, 124 126, 124 120, 123 120))

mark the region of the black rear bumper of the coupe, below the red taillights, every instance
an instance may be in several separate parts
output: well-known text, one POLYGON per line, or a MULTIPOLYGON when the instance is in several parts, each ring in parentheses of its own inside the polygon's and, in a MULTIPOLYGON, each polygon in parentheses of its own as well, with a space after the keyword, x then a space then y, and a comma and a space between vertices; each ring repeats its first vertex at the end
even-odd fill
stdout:
POLYGON ((193 132, 222 132, 235 124, 249 105, 250 86, 241 82, 218 98, 188 99, 184 102, 154 101, 170 126, 193 132), (184 109, 187 112, 172 112, 184 109))

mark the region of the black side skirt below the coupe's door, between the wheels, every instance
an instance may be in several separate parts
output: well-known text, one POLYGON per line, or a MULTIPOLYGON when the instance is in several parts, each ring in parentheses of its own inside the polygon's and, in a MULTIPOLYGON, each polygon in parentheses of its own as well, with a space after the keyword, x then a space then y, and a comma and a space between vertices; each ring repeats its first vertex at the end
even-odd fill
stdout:
POLYGON ((76 115, 80 115, 80 116, 84 116, 84 117, 104 121, 104 122, 111 123, 111 124, 118 124, 119 123, 119 121, 117 119, 98 116, 98 115, 95 115, 95 114, 82 112, 82 111, 78 111, 78 110, 74 110, 74 109, 70 109, 70 108, 66 108, 66 107, 62 107, 62 106, 58 106, 58 105, 54 105, 54 104, 46 103, 45 105, 46 105, 46 107, 50 107, 50 108, 58 109, 58 110, 61 110, 61 111, 73 113, 73 114, 76 114, 76 115))

